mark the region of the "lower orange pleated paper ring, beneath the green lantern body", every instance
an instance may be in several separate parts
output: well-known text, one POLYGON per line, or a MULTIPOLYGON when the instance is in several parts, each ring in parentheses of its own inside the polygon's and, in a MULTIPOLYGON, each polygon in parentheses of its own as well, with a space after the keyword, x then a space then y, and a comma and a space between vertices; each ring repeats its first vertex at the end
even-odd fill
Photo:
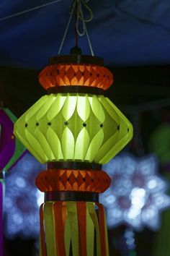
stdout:
POLYGON ((104 171, 48 169, 48 171, 41 171, 38 174, 35 183, 42 192, 102 193, 109 187, 110 178, 104 171))

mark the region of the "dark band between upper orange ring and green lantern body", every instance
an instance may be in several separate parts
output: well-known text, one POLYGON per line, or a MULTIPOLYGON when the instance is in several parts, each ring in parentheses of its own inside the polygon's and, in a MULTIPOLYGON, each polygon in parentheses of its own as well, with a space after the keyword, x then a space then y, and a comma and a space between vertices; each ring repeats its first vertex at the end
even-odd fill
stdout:
POLYGON ((102 88, 81 85, 60 85, 48 88, 48 94, 51 93, 88 93, 93 95, 102 95, 104 94, 104 90, 102 88))

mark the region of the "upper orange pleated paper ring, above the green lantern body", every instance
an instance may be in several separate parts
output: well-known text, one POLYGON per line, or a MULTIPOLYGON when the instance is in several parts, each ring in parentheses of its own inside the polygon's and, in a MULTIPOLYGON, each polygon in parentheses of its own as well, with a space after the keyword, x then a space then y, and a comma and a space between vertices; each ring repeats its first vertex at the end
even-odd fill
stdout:
POLYGON ((113 75, 106 67, 94 64, 53 64, 40 72, 39 81, 45 90, 58 86, 86 86, 107 90, 113 75))

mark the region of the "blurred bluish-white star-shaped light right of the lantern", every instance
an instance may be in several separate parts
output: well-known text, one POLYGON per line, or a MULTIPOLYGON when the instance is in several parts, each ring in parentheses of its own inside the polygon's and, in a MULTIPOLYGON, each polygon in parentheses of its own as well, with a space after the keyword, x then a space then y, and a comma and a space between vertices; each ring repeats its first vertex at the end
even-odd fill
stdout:
POLYGON ((158 175, 158 160, 153 155, 135 158, 130 153, 113 158, 104 166, 112 179, 100 200, 107 208, 107 225, 126 223, 137 231, 147 226, 160 227, 160 212, 170 207, 165 194, 167 183, 158 175))

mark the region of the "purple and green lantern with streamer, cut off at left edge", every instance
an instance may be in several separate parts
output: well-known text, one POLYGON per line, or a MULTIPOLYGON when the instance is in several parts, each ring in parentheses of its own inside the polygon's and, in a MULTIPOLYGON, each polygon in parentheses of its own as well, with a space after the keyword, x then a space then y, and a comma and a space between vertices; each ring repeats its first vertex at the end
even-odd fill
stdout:
POLYGON ((24 146, 14 137, 14 121, 17 117, 8 108, 0 108, 0 255, 4 255, 3 241, 3 216, 4 216, 4 192, 5 172, 24 153, 24 146))

